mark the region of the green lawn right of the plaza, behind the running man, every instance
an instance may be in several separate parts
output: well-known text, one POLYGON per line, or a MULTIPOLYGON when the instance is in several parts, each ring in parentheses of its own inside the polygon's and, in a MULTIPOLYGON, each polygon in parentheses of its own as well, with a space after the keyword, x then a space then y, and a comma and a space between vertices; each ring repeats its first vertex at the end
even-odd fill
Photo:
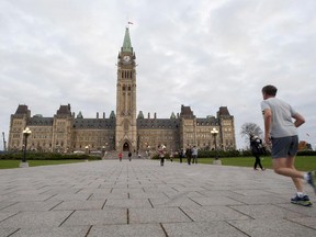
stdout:
MULTIPOLYGON (((179 159, 174 159, 179 161, 179 159)), ((214 158, 199 158, 199 163, 213 163, 214 158)), ((238 166, 238 167, 253 167, 255 157, 229 157, 221 158, 223 166, 238 166)), ((187 159, 183 159, 182 162, 187 162, 187 159)), ((261 165, 266 169, 272 169, 272 158, 262 157, 261 165)), ((259 167, 258 167, 259 168, 259 167)), ((312 156, 298 156, 295 158, 295 168, 302 171, 316 170, 316 157, 312 156)))

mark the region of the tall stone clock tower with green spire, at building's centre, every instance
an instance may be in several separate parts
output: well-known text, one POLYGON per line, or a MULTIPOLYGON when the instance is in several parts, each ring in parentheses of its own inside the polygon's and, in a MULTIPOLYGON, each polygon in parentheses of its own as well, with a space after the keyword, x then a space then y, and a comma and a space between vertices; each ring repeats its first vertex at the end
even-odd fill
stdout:
POLYGON ((119 151, 137 150, 135 59, 126 27, 117 57, 115 149, 119 151))

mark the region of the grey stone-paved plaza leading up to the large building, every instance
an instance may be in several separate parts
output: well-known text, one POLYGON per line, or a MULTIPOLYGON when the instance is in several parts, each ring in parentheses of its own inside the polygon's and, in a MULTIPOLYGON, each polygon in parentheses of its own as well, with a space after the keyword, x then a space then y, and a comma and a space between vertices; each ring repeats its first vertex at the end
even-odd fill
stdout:
POLYGON ((290 203, 272 170, 101 160, 0 170, 2 237, 316 236, 314 206, 290 203))

